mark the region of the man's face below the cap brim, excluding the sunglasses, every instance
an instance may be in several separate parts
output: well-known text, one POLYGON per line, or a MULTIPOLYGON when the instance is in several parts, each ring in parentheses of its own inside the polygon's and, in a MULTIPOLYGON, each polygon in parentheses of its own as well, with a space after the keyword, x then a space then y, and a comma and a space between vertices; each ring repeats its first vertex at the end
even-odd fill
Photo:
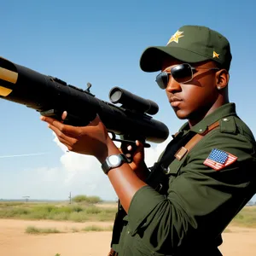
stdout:
MULTIPOLYGON (((181 61, 166 60, 162 71, 168 73, 172 67, 182 63, 181 61)), ((214 62, 205 61, 191 64, 191 66, 195 67, 195 71, 189 82, 178 83, 173 79, 172 74, 169 74, 166 84, 166 95, 179 119, 203 118, 218 98, 216 70, 211 69, 212 67, 216 68, 214 62)))

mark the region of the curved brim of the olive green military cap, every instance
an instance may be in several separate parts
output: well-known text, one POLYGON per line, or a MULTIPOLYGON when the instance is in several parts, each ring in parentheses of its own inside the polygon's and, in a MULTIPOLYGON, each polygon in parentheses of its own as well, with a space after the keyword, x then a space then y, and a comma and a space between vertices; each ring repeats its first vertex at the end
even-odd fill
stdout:
POLYGON ((189 63, 207 61, 209 59, 207 56, 195 54, 188 49, 169 46, 154 46, 144 50, 140 59, 140 67, 145 72, 160 71, 162 69, 163 61, 170 57, 189 63))

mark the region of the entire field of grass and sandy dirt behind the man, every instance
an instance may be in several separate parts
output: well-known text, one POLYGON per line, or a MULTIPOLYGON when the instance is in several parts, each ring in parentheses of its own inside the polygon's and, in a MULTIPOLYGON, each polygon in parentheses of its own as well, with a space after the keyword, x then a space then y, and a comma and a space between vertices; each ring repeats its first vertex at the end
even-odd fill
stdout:
MULTIPOLYGON (((116 204, 0 203, 0 255, 108 255, 116 204)), ((256 255, 256 207, 224 231, 224 256, 256 255)))

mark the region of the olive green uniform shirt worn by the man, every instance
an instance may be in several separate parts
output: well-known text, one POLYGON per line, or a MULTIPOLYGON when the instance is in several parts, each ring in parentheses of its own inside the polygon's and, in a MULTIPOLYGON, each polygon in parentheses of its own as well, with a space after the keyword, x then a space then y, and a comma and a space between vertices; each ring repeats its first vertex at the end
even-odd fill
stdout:
POLYGON ((218 120, 218 128, 189 154, 172 161, 164 195, 147 185, 133 196, 128 214, 113 230, 112 247, 119 256, 222 255, 221 233, 256 192, 253 134, 236 115, 234 103, 190 130, 188 123, 183 125, 180 134, 203 133, 218 120), (237 159, 217 171, 205 164, 213 148, 237 159))

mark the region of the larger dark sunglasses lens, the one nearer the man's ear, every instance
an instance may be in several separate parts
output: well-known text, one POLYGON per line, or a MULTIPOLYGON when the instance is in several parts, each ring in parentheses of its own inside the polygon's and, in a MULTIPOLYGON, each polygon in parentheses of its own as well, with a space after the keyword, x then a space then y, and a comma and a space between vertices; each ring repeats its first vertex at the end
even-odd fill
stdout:
POLYGON ((177 81, 177 83, 186 83, 193 78, 192 69, 189 64, 180 64, 172 67, 172 78, 177 81))

